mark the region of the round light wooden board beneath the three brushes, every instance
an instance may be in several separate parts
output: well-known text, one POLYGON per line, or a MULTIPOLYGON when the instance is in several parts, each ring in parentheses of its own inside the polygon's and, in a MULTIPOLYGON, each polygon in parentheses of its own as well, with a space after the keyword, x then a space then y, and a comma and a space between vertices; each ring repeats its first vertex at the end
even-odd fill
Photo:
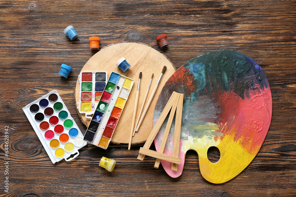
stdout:
MULTIPOLYGON (((142 72, 141 78, 141 88, 139 95, 139 102, 137 108, 136 121, 139 115, 139 111, 142 106, 142 102, 144 100, 144 96, 146 94, 148 84, 150 82, 152 73, 154 73, 154 77, 152 79, 152 83, 149 89, 149 93, 144 105, 146 107, 146 103, 149 100, 151 92, 159 78, 163 66, 167 66, 167 70, 163 74, 163 77, 159 83, 158 89, 154 95, 154 99, 152 100, 150 107, 145 115, 145 118, 141 124, 141 127, 138 132, 133 136, 132 144, 141 144, 148 138, 150 132, 152 131, 153 125, 153 114, 156 105, 157 98, 170 76, 176 71, 176 68, 173 64, 160 52, 155 49, 149 47, 148 45, 144 45, 141 43, 118 43, 114 45, 107 46, 101 49, 98 53, 94 54, 89 61, 83 66, 81 71, 107 71, 108 78, 112 71, 127 76, 131 79, 134 79, 134 85, 131 89, 131 93, 128 97, 126 105, 123 108, 123 112, 120 116, 118 124, 115 128, 115 131, 112 136, 111 142, 115 144, 128 143, 129 136, 131 132, 131 123, 133 117, 133 109, 135 105, 135 98, 137 92, 137 86, 139 81, 139 73, 142 72), (124 73, 118 67, 115 66, 115 63, 120 58, 126 58, 126 61, 131 65, 131 67, 124 73)), ((78 78, 79 79, 79 78, 78 78)), ((75 88, 75 103, 79 100, 79 81, 77 79, 76 88, 75 88)), ((78 110, 77 110, 78 112, 78 110)), ((88 126, 91 119, 86 118, 84 114, 78 115, 81 116, 81 121, 88 126)))

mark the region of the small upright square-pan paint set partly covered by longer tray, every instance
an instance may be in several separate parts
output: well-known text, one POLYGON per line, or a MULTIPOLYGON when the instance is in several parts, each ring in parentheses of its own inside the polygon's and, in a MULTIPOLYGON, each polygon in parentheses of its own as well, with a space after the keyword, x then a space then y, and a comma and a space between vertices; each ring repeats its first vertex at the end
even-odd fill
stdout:
POLYGON ((79 76, 79 113, 84 113, 86 118, 91 118, 107 84, 107 72, 81 71, 79 76))

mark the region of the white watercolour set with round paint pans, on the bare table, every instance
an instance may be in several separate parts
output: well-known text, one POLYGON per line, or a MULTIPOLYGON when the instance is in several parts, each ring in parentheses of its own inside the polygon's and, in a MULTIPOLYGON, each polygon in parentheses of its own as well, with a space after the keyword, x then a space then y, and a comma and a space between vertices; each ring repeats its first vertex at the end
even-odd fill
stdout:
POLYGON ((56 90, 22 109, 52 163, 74 159, 79 154, 78 149, 87 144, 56 90), (69 158, 71 154, 74 157, 69 158))

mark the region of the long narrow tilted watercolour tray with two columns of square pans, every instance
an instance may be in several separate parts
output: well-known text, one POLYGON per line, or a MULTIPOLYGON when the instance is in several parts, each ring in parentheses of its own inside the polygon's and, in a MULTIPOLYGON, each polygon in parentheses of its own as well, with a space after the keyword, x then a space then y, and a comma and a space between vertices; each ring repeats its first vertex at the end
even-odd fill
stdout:
POLYGON ((133 83, 133 79, 111 73, 84 135, 85 141, 107 149, 133 83))

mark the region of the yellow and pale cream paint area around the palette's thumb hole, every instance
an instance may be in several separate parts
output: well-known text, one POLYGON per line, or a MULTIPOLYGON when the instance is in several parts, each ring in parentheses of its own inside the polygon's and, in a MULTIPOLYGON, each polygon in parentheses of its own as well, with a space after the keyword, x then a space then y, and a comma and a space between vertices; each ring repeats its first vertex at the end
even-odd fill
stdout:
POLYGON ((256 156, 256 154, 249 154, 244 150, 240 141, 234 141, 233 137, 225 135, 222 138, 223 141, 205 136, 203 138, 191 138, 188 141, 183 141, 184 146, 182 147, 182 152, 188 149, 197 152, 203 178, 216 184, 224 183, 237 176, 256 156), (212 163, 207 158, 207 151, 211 146, 217 147, 220 151, 218 162, 212 163))

